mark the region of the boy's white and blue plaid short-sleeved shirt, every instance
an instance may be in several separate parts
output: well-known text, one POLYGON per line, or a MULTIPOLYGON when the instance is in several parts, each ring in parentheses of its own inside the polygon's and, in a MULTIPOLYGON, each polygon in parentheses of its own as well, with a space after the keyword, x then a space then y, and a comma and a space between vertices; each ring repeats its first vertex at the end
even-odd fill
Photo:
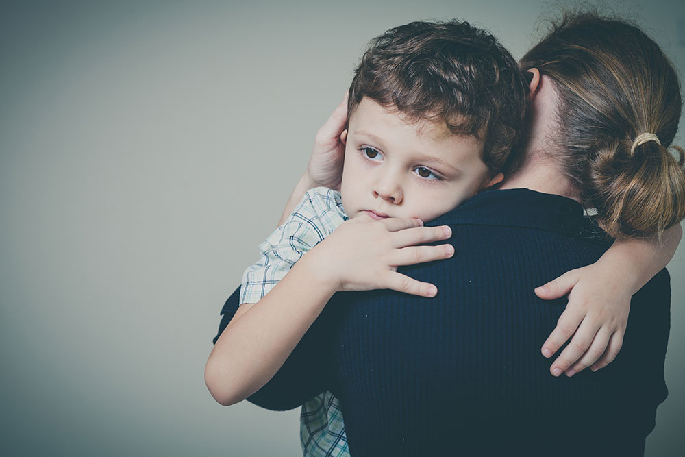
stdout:
MULTIPOLYGON (((260 260, 243 273, 240 303, 257 303, 306 251, 347 219, 339 192, 325 187, 308 190, 286 222, 260 245, 260 260)), ((332 393, 302 405, 300 440, 306 457, 349 456, 343 412, 332 393)))

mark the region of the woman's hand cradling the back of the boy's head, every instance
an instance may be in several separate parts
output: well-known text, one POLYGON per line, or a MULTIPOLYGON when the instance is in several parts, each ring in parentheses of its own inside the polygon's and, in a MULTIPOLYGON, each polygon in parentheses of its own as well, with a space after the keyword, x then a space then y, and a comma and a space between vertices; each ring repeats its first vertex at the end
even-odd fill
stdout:
POLYGON ((316 132, 314 149, 312 149, 312 156, 307 167, 310 180, 308 188, 323 186, 340 190, 345 158, 345 145, 340 140, 340 134, 345 129, 345 123, 347 123, 347 92, 343 101, 316 132))

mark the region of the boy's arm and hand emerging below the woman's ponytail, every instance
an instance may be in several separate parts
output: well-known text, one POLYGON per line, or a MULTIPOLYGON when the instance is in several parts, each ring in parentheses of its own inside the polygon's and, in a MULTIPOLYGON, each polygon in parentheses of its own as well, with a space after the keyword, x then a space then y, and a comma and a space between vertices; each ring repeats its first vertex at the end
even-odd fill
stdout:
POLYGON ((573 336, 550 367, 553 375, 572 376, 592 365, 609 365, 623 344, 630 299, 673 258, 682 238, 680 224, 661 236, 616 241, 597 262, 571 270, 536 288, 542 299, 569 294, 569 304, 543 344, 551 357, 573 336))

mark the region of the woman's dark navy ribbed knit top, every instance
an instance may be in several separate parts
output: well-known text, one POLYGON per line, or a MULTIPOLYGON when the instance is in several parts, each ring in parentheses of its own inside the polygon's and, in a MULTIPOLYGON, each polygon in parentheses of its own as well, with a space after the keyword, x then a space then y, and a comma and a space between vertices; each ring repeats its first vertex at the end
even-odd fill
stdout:
POLYGON ((455 256, 401 270, 436 297, 336 294, 249 400, 289 409, 332 391, 352 456, 642 455, 667 395, 667 271, 634 296, 612 364, 553 378, 540 347, 566 300, 533 290, 608 242, 575 201, 525 189, 480 193, 429 225, 442 224, 455 256))

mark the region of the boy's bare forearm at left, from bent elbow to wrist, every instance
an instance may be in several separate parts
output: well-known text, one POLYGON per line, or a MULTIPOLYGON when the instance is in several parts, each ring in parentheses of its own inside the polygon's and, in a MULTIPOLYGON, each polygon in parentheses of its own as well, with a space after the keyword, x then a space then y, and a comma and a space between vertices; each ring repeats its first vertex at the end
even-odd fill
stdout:
POLYGON ((269 382, 334 294, 335 286, 317 280, 316 267, 306 258, 239 319, 236 315, 216 341, 205 382, 217 402, 235 404, 269 382))

